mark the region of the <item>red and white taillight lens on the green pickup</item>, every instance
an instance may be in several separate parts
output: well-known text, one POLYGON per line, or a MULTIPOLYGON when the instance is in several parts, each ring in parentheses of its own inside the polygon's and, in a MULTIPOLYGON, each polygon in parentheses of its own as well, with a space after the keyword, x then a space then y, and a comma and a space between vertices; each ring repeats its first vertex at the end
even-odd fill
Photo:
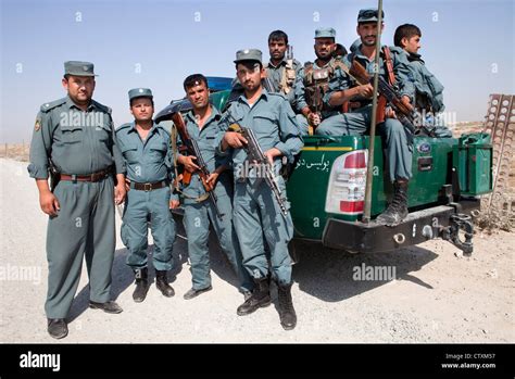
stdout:
POLYGON ((335 160, 327 189, 327 213, 363 213, 367 157, 367 150, 356 150, 335 160))

